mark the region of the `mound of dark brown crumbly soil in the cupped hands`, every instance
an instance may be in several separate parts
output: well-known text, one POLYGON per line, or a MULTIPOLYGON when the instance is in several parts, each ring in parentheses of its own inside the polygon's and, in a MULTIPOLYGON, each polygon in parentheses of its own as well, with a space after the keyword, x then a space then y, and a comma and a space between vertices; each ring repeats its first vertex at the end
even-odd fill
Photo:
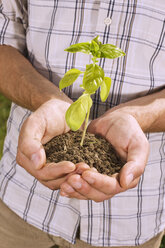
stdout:
POLYGON ((47 162, 85 162, 102 174, 118 173, 124 162, 104 138, 87 133, 80 146, 81 131, 70 131, 54 137, 45 147, 47 162))

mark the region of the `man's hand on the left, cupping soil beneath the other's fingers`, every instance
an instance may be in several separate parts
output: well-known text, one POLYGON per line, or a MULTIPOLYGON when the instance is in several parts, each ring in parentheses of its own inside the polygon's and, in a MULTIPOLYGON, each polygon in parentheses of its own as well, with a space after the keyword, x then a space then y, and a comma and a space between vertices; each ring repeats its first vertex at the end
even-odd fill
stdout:
POLYGON ((54 136, 69 131, 65 122, 65 112, 69 105, 58 99, 47 101, 27 118, 19 136, 18 164, 53 190, 58 189, 68 173, 76 168, 76 165, 68 161, 46 164, 43 148, 43 144, 54 136))

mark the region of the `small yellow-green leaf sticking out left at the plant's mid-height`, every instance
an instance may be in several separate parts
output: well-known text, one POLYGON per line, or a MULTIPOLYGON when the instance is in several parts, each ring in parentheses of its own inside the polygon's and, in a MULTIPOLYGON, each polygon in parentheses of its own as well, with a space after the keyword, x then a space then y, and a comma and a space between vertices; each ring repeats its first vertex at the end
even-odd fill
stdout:
POLYGON ((83 73, 83 72, 78 70, 78 69, 75 69, 75 68, 67 71, 65 73, 64 77, 60 80, 60 83, 59 83, 60 90, 72 85, 81 73, 83 73))

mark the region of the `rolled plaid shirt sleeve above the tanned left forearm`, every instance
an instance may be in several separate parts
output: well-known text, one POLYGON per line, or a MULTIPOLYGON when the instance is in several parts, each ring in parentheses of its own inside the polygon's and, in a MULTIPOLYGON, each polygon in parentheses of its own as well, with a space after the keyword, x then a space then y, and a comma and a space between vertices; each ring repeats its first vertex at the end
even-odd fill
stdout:
POLYGON ((0 45, 26 49, 27 0, 0 0, 0 45))

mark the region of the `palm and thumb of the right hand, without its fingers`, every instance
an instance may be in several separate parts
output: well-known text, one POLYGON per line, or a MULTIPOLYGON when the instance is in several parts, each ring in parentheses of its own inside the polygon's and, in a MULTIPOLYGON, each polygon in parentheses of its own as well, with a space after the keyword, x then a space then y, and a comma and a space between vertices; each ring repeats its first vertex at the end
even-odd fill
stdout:
POLYGON ((92 121, 88 130, 105 136, 120 157, 127 161, 119 173, 120 186, 123 189, 135 187, 149 155, 149 143, 136 119, 124 113, 105 114, 92 121))

